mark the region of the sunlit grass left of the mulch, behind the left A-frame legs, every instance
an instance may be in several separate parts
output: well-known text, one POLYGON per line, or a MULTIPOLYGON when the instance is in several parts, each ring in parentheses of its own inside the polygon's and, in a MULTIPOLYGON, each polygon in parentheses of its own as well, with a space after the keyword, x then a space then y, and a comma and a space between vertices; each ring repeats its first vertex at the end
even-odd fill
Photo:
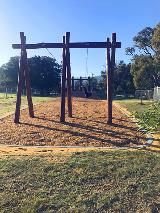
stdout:
MULTIPOLYGON (((51 100, 50 97, 34 97, 33 96, 33 104, 37 104, 43 101, 51 100)), ((8 113, 14 112, 16 106, 16 95, 8 94, 8 97, 5 98, 4 93, 0 93, 0 117, 5 116, 8 113)), ((26 96, 22 96, 22 105, 21 107, 27 107, 27 98, 26 96)))

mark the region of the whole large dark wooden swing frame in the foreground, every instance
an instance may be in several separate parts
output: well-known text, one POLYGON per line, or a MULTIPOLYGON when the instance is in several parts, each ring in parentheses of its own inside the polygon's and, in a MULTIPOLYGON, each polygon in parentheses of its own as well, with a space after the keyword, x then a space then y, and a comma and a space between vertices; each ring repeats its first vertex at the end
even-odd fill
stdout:
MULTIPOLYGON (((121 42, 116 41, 116 33, 112 33, 112 40, 107 38, 106 42, 70 42, 70 32, 66 32, 63 36, 62 43, 37 43, 26 44, 26 36, 24 32, 20 32, 21 44, 13 44, 13 49, 21 50, 20 67, 18 73, 18 87, 17 87, 17 100, 14 122, 19 123, 20 119, 20 106, 22 88, 25 81, 26 93, 28 100, 28 108, 30 117, 34 117, 29 67, 27 62, 27 49, 40 49, 40 48, 62 48, 62 79, 61 79, 61 111, 60 122, 65 122, 65 93, 67 81, 67 102, 68 102, 68 116, 72 117, 72 90, 74 79, 71 79, 71 66, 70 66, 70 48, 106 48, 106 74, 107 74, 107 102, 108 102, 108 116, 107 123, 112 124, 112 90, 113 90, 113 73, 115 68, 115 51, 116 48, 121 48, 121 42), (72 83, 71 83, 72 82, 72 83)), ((81 79, 82 82, 83 79, 81 79)), ((89 79, 88 79, 89 81, 89 79)), ((85 88, 86 90, 86 88, 85 88)), ((89 95, 89 94, 88 94, 89 95)))

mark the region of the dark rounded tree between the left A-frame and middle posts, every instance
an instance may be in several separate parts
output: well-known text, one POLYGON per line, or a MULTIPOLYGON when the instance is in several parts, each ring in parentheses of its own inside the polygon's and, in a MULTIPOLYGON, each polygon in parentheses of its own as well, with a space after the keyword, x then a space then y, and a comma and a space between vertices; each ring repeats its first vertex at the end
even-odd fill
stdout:
POLYGON ((55 58, 35 56, 28 59, 28 64, 32 88, 40 90, 42 96, 60 92, 61 66, 55 58))

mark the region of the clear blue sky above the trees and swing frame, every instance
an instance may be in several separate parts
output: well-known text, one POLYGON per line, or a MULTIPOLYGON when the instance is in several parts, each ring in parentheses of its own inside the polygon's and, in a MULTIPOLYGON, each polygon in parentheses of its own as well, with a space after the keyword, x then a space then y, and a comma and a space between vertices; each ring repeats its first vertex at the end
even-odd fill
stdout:
MULTIPOLYGON (((112 32, 122 48, 116 60, 129 61, 124 49, 146 26, 160 21, 160 0, 0 0, 0 65, 19 55, 12 43, 19 43, 24 31, 27 43, 61 42, 66 31, 71 41, 105 41, 112 32)), ((61 50, 50 49, 61 61, 61 50)), ((99 75, 105 64, 105 49, 89 49, 88 74, 99 75)), ((28 50, 28 56, 47 55, 46 50, 28 50)), ((85 76, 86 49, 71 50, 72 74, 85 76)))

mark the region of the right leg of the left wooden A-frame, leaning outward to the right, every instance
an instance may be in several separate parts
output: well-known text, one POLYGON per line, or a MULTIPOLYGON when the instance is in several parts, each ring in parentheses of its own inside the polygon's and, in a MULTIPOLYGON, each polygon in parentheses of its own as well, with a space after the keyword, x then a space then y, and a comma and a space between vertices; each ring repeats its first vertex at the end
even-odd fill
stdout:
POLYGON ((26 48, 25 48, 26 36, 24 36, 24 33, 21 33, 21 38, 22 38, 22 41, 23 41, 22 48, 23 48, 23 60, 24 60, 24 75, 25 75, 29 115, 30 115, 31 118, 33 118, 34 117, 34 111, 33 111, 33 102, 32 102, 32 96, 31 96, 31 86, 30 86, 29 67, 28 67, 28 61, 27 61, 27 51, 26 51, 26 48))

